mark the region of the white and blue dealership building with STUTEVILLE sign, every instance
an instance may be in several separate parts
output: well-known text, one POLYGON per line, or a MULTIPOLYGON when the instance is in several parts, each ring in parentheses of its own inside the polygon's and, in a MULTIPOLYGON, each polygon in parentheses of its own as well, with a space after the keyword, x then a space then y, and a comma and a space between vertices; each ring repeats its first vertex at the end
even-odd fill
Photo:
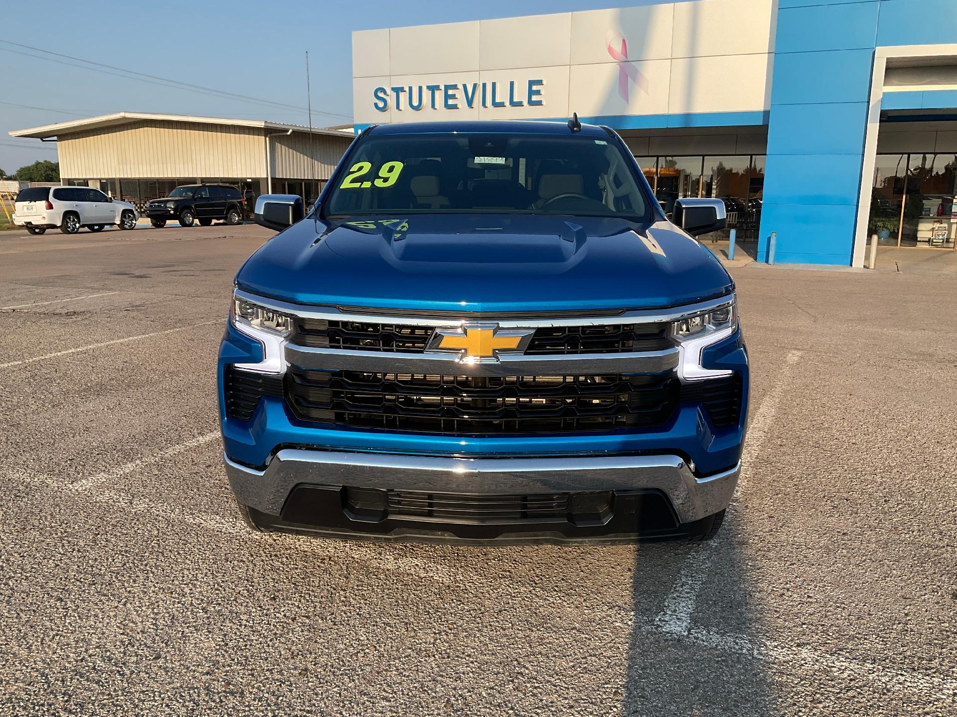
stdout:
MULTIPOLYGON (((698 0, 352 36, 355 130, 568 120, 658 200, 724 200, 779 262, 862 266, 957 233, 957 0, 698 0)), ((533 181, 533 179, 532 179, 533 181)))

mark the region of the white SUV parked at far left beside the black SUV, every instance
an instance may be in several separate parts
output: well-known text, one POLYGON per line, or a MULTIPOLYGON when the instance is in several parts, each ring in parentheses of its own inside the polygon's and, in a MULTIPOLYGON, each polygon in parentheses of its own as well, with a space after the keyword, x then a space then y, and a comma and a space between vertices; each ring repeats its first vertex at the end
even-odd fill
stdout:
POLYGON ((76 234, 80 227, 90 231, 107 225, 132 229, 139 218, 133 205, 89 186, 31 186, 16 195, 13 224, 26 227, 31 234, 55 227, 64 234, 76 234))

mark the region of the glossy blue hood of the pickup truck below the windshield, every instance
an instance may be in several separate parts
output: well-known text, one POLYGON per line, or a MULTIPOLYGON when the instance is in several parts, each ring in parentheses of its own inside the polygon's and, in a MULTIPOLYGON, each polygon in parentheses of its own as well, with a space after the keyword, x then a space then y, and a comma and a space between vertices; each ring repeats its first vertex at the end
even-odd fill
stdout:
POLYGON ((309 217, 256 250, 236 286, 299 304, 467 312, 650 309, 734 290, 667 222, 522 214, 309 217))

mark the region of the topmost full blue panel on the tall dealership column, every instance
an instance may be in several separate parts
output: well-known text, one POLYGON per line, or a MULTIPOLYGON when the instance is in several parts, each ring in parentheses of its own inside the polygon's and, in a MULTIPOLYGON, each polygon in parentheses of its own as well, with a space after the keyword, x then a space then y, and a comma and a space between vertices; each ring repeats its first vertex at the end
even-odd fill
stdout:
POLYGON ((776 53, 874 47, 878 3, 812 5, 778 12, 776 53))

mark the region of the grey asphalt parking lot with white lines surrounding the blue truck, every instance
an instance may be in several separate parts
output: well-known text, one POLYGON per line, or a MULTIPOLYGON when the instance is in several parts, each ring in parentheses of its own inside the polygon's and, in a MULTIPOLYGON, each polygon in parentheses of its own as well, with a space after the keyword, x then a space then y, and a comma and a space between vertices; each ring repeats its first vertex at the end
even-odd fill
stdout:
POLYGON ((0 714, 957 714, 953 274, 732 268, 712 543, 380 545, 234 510, 215 355, 269 235, 0 234, 0 714))

